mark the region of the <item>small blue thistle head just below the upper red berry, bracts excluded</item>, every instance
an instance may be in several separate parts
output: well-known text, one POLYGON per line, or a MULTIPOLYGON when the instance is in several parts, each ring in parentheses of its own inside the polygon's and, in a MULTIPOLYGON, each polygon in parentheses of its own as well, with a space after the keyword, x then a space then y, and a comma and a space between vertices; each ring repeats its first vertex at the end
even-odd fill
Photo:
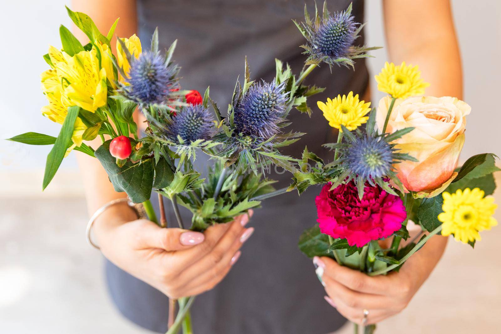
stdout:
POLYGON ((214 133, 213 124, 207 108, 202 105, 190 105, 183 107, 172 118, 167 137, 173 142, 178 142, 177 136, 187 143, 198 139, 209 140, 214 133))

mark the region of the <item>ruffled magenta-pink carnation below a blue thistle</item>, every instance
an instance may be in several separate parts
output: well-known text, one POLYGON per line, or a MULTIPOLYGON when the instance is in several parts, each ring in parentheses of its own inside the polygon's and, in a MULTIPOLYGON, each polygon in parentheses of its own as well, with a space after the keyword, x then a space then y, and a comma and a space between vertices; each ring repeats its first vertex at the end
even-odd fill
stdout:
POLYGON ((379 186, 366 184, 362 200, 353 181, 332 191, 326 184, 315 199, 322 233, 342 238, 350 246, 362 247, 371 240, 390 236, 400 229, 407 216, 400 197, 379 186))

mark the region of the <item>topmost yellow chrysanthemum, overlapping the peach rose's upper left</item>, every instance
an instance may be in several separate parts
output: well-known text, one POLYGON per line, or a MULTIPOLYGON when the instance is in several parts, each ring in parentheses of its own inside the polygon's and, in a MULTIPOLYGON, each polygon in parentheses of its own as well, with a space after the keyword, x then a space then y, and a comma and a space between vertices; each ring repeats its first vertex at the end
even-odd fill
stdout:
POLYGON ((423 95, 424 89, 430 84, 421 78, 418 66, 401 65, 395 66, 386 62, 376 78, 377 89, 391 95, 395 99, 406 99, 410 96, 423 95))

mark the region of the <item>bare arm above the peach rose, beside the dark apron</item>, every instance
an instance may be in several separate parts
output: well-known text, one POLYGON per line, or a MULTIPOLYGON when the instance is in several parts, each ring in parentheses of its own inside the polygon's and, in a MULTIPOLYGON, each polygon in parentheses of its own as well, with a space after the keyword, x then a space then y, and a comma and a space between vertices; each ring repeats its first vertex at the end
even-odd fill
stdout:
POLYGON ((419 65, 426 95, 462 98, 462 71, 448 0, 384 2, 390 60, 419 65))

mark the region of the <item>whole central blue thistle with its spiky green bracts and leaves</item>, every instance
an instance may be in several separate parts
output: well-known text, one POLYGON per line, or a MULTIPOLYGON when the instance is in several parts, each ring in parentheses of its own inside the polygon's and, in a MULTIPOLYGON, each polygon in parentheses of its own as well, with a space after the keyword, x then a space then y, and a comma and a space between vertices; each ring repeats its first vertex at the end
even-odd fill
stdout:
POLYGON ((296 84, 295 76, 287 65, 277 63, 277 76, 271 83, 256 83, 250 80, 250 71, 245 60, 245 76, 243 84, 237 81, 233 91, 232 102, 225 118, 213 101, 217 121, 218 134, 214 140, 221 142, 221 148, 214 156, 226 160, 226 164, 235 164, 237 169, 246 169, 258 173, 275 164, 288 171, 296 168, 292 162, 297 161, 280 153, 279 148, 299 140, 303 133, 284 132, 287 115, 293 107, 302 112, 309 112, 306 97, 323 91, 315 86, 308 87, 296 84))

